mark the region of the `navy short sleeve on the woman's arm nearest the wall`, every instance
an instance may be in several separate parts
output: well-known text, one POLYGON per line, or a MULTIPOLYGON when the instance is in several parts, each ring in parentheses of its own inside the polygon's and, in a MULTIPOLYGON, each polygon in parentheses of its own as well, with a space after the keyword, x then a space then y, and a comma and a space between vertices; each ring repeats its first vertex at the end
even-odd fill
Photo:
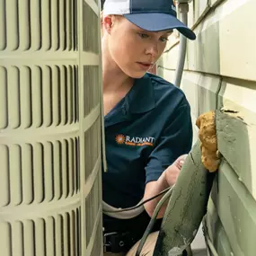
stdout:
POLYGON ((146 183, 157 181, 163 171, 181 154, 188 154, 192 145, 192 124, 189 103, 175 111, 174 119, 163 129, 146 164, 146 183))

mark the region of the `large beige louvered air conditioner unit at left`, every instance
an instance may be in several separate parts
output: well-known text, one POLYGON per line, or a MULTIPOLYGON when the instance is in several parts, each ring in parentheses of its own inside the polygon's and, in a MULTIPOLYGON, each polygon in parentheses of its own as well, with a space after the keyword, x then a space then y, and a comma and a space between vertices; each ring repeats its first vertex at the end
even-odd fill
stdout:
POLYGON ((102 255, 97 2, 0 0, 2 256, 102 255))

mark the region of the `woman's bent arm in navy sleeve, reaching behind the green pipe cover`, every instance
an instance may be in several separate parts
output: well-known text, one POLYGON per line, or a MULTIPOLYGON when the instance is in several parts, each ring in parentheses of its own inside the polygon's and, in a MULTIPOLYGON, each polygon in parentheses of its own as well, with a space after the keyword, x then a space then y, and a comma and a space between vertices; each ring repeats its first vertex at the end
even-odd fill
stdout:
MULTIPOLYGON (((182 161, 185 158, 182 154, 190 152, 191 144, 190 106, 189 104, 183 104, 176 110, 175 119, 172 119, 169 126, 164 129, 158 145, 150 155, 146 166, 144 199, 155 196, 175 183, 181 170, 182 161)), ((149 216, 153 215, 154 208, 160 199, 161 197, 158 197, 145 204, 149 216)), ((163 205, 158 217, 163 217, 166 205, 163 205)))

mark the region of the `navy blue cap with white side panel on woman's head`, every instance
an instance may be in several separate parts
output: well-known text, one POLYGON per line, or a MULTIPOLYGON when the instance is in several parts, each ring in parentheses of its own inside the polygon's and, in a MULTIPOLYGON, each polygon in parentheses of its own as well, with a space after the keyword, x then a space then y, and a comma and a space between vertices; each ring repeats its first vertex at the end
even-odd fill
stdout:
POLYGON ((177 29, 190 40, 196 35, 177 19, 172 0, 106 0, 104 14, 119 14, 145 31, 177 29))

